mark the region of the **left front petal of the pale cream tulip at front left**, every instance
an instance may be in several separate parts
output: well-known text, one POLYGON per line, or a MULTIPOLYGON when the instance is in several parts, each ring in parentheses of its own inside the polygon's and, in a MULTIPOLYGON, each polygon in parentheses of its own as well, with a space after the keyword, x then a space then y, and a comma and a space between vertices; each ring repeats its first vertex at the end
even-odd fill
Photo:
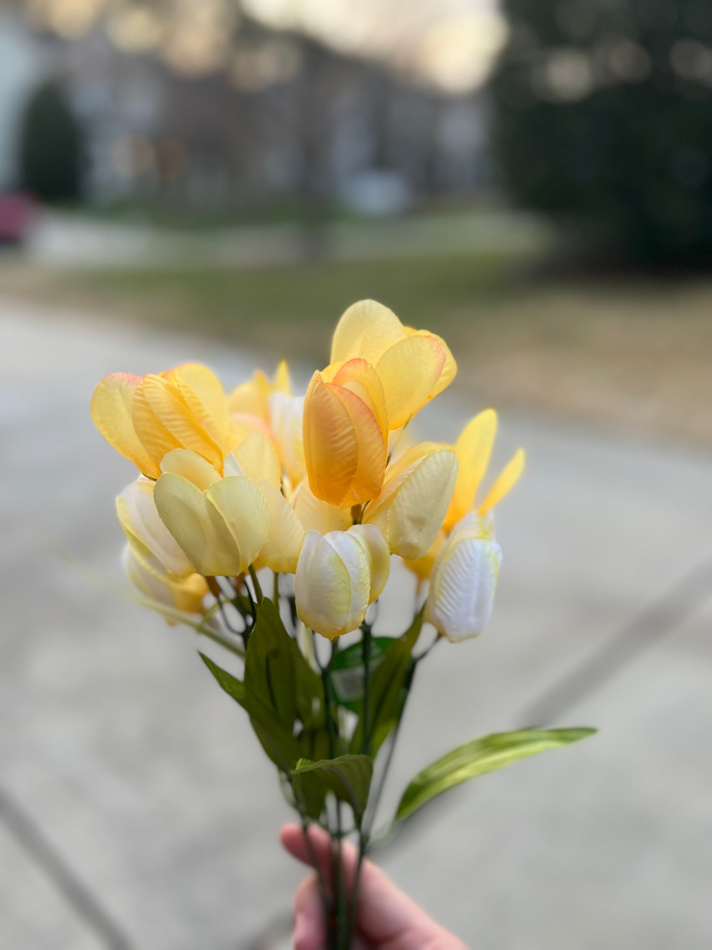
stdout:
POLYGON ((196 485, 182 475, 167 472, 156 483, 154 499, 160 520, 198 574, 234 577, 245 570, 247 564, 230 529, 215 504, 196 485))

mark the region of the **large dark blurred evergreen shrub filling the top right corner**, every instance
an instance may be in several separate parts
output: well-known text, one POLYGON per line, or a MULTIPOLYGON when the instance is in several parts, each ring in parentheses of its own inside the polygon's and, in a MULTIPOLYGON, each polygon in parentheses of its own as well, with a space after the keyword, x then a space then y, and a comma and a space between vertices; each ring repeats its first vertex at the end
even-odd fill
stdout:
POLYGON ((524 206, 638 259, 712 260, 712 2, 505 0, 498 167, 524 206))

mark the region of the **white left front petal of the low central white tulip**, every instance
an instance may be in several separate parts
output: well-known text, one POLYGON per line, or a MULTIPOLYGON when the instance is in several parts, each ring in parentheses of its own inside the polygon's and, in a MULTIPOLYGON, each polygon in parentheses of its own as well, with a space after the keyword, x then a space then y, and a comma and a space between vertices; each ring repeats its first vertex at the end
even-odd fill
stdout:
POLYGON ((318 531, 308 531, 294 575, 299 619, 322 637, 334 639, 344 630, 351 607, 347 565, 318 531))

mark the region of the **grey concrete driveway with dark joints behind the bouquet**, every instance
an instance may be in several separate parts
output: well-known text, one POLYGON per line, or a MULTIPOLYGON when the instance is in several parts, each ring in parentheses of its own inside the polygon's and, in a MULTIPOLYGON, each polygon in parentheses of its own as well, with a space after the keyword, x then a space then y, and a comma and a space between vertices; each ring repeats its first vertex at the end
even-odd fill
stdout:
MULTIPOLYGON (((89 397, 108 371, 186 359, 229 384, 253 362, 0 302, 2 947, 250 950, 289 922, 302 872, 277 845, 288 809, 246 717, 189 631, 58 553, 122 582, 113 496, 133 472, 89 397)), ((482 408, 439 405, 426 436, 482 408)), ((499 458, 524 445, 529 462, 498 511, 495 616, 422 669, 384 815, 473 735, 534 721, 600 733, 452 792, 380 860, 481 950, 707 950, 712 455, 524 417, 500 433, 499 458)))

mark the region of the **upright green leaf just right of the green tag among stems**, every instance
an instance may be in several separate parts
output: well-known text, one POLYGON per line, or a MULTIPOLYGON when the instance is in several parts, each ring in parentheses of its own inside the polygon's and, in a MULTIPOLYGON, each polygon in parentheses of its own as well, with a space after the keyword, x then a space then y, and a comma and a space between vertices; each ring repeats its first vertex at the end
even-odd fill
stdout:
MULTIPOLYGON (((371 677, 368 692, 368 722, 371 733, 371 756, 384 743, 385 737, 401 712, 403 687, 411 664, 410 655, 421 635, 423 612, 413 620, 411 626, 390 647, 378 668, 371 677)), ((363 713, 351 737, 349 751, 359 752, 364 748, 363 713)))

